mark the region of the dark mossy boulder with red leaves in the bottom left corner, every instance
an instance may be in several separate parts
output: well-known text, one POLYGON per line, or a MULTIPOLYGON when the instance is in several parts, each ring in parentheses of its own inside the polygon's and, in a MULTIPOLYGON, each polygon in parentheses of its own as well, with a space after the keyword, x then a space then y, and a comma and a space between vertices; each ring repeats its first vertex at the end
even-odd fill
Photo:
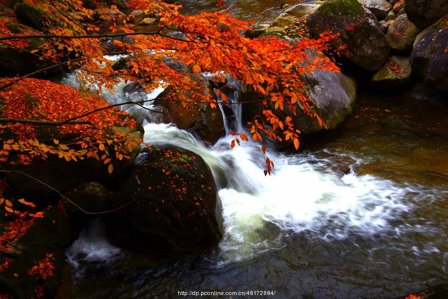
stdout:
POLYGON ((43 218, 36 218, 20 238, 0 253, 2 262, 9 261, 1 271, 0 290, 11 298, 37 299, 39 291, 43 295, 40 298, 54 298, 61 283, 66 264, 64 250, 71 242, 70 226, 58 206, 42 211, 43 218), (32 272, 39 262, 51 263, 54 268, 47 267, 51 272, 46 270, 46 275, 32 272))

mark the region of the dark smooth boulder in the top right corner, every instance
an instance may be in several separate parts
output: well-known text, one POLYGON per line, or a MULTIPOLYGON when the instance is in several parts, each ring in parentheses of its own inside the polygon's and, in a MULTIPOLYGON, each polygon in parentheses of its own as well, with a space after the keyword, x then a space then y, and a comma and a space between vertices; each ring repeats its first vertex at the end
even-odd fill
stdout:
POLYGON ((448 0, 405 0, 405 2, 409 20, 422 30, 448 13, 448 0))

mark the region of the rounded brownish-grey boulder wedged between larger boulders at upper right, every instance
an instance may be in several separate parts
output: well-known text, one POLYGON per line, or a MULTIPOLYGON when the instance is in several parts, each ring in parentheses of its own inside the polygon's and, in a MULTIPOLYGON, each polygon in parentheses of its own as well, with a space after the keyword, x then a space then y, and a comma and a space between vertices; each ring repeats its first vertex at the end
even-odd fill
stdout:
POLYGON ((415 38, 421 31, 409 21, 406 14, 402 14, 389 26, 386 37, 393 49, 409 54, 412 51, 415 38))

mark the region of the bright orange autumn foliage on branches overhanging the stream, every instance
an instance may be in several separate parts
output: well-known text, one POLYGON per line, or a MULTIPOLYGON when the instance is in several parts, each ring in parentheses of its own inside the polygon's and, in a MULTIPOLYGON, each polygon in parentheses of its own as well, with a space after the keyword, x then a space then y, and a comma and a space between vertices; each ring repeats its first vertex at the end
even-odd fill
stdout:
MULTIPOLYGON (((102 91, 112 91, 120 80, 144 86, 146 91, 169 86, 166 100, 181 103, 186 113, 193 103, 208 103, 216 108, 216 101, 210 94, 205 95, 202 84, 192 80, 192 74, 201 73, 217 74, 216 80, 222 81, 224 74, 230 75, 253 87, 262 99, 260 115, 248 123, 252 139, 261 141, 260 133, 264 132, 271 139, 291 140, 297 149, 300 131, 290 118, 282 122, 275 117, 267 108, 267 101, 280 110, 289 107, 295 111, 300 107, 298 109, 319 119, 312 110, 311 101, 304 95, 301 78, 316 69, 338 71, 331 59, 319 56, 328 49, 326 42, 334 37, 330 33, 318 39, 269 35, 250 39, 240 34, 242 30, 250 30, 250 23, 232 18, 228 13, 183 15, 179 5, 153 0, 129 1, 128 9, 123 10, 126 13, 115 5, 112 11, 106 7, 94 11, 77 0, 27 2, 42 12, 39 20, 34 20, 38 33, 5 34, 2 30, 0 43, 36 55, 50 66, 21 77, 1 79, 4 110, 0 120, 3 142, 0 159, 3 161, 11 155, 19 156, 20 163, 35 157, 45 158, 48 154, 67 161, 92 157, 104 161, 112 172, 113 158, 128 158, 131 147, 141 140, 129 139, 116 131, 108 132, 115 135, 113 152, 105 146, 107 141, 101 137, 101 132, 106 124, 134 124, 132 119, 120 116, 119 111, 101 99, 102 91), (110 24, 108 33, 100 33, 100 27, 93 21, 94 14, 101 9, 107 10, 103 18, 110 24), (134 15, 127 14, 132 9, 155 16, 157 25, 149 31, 136 32, 133 30, 134 15), (38 49, 29 51, 26 41, 31 38, 44 42, 38 49), (105 38, 112 42, 107 43, 105 38), (105 56, 112 53, 122 55, 126 68, 113 67, 114 61, 105 56), (170 67, 167 61, 184 66, 184 71, 170 67), (45 102, 42 94, 45 81, 30 77, 60 66, 77 71, 80 92, 62 97, 59 103, 45 102), (95 92, 91 87, 95 87, 95 92), (26 101, 39 101, 39 109, 31 111, 26 101), (69 142, 59 143, 54 137, 51 143, 42 143, 33 133, 38 126, 51 126, 54 134, 82 133, 75 134, 69 142)), ((221 97, 226 101, 224 94, 221 97)), ((235 136, 232 148, 235 143, 239 145, 240 140, 248 140, 244 132, 231 134, 235 136)), ((265 152, 265 148, 262 149, 265 152)), ((266 157, 265 174, 270 173, 272 166, 266 157)))

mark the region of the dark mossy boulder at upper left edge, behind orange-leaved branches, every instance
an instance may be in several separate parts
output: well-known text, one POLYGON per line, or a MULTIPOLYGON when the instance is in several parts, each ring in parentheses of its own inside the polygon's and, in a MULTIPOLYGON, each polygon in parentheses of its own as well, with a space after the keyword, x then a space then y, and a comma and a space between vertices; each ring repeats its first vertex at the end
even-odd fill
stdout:
MULTIPOLYGON (((2 32, 4 35, 9 34, 24 34, 24 35, 39 35, 40 32, 17 23, 13 19, 3 17, 6 21, 4 25, 8 32, 2 32)), ((26 75, 43 68, 47 68, 55 65, 52 60, 40 60, 37 55, 42 55, 42 46, 48 44, 49 41, 43 38, 29 38, 23 40, 12 41, 9 46, 6 43, 0 44, 0 74, 3 76, 16 76, 26 75), (13 47, 23 47, 26 51, 19 51, 17 48, 13 47), (35 53, 30 53, 33 50, 37 50, 35 53)), ((51 45, 49 45, 52 48, 51 45)), ((56 51, 53 48, 54 53, 56 51)), ((61 74, 63 72, 62 66, 57 66, 53 69, 47 70, 45 72, 36 74, 35 77, 48 77, 61 74)))

